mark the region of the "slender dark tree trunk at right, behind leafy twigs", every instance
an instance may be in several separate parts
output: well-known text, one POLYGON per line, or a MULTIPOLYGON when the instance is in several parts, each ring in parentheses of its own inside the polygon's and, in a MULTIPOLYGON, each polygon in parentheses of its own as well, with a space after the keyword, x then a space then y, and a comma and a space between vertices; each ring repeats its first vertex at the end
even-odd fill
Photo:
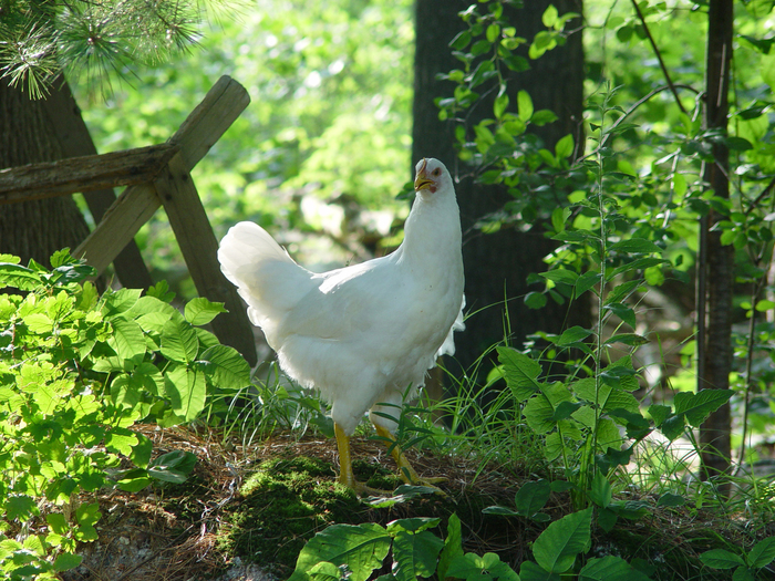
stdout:
MULTIPOLYGON (((730 86, 730 63, 732 60, 732 0, 711 0, 709 10, 707 54, 705 63, 705 127, 719 128, 726 134, 730 86)), ((726 145, 713 145, 715 163, 705 166, 704 179, 713 193, 722 198, 730 197, 727 179, 730 152, 726 145)), ((732 371, 732 294, 734 284, 734 249, 722 246, 721 230, 713 226, 725 219, 711 211, 703 224, 703 242, 706 295, 699 292, 699 301, 704 301, 707 326, 701 333, 699 390, 728 390, 732 371), (704 336, 703 336, 704 335, 704 336)), ((702 251, 702 250, 701 250, 702 251)), ((700 427, 702 445, 703 476, 725 475, 731 460, 730 405, 724 404, 700 427)), ((722 485, 728 494, 728 483, 722 485)))

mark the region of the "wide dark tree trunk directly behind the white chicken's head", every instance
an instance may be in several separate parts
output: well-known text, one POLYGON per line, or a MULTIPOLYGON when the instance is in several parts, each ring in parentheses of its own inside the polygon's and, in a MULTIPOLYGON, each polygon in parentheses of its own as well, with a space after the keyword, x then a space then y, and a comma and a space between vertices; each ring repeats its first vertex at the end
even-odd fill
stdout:
MULTIPOLYGON (((580 0, 525 2, 524 9, 510 10, 513 18, 509 20, 517 28, 517 37, 531 39, 536 32, 544 30, 541 14, 550 3, 560 13, 581 12, 580 0)), ((438 108, 433 101, 452 93, 453 85, 436 80, 436 74, 461 65, 452 55, 448 43, 466 29, 457 12, 469 4, 469 0, 417 0, 416 3, 412 158, 416 163, 422 157, 436 157, 446 164, 453 177, 467 172, 458 165, 453 147, 454 124, 438 121, 438 108)), ((558 122, 536 131, 549 149, 568 133, 574 134, 578 143, 583 97, 581 35, 571 35, 565 46, 531 61, 530 65, 529 71, 510 75, 508 87, 512 103, 516 102, 517 92, 524 89, 533 97, 536 110, 550 108, 560 117, 558 122)), ((480 116, 472 115, 472 125, 484 116, 492 117, 492 104, 482 105, 477 111, 480 116)), ((471 178, 463 178, 455 187, 463 226, 468 310, 484 309, 467 320, 466 331, 455 339, 455 359, 466 370, 484 350, 504 339, 506 310, 510 322, 510 341, 515 346, 521 346, 525 338, 537 330, 560 331, 567 323, 568 304, 558 305, 550 301, 540 310, 530 310, 524 304, 523 297, 528 292, 528 273, 545 271, 546 264, 541 259, 555 248, 555 243, 542 236, 540 228, 534 227, 527 232, 504 228, 490 235, 474 228, 479 218, 503 208, 510 199, 505 188, 474 184, 471 178)), ((587 320, 587 323, 579 324, 589 324, 588 315, 585 318, 579 312, 581 310, 576 311, 582 314, 581 321, 587 320)), ((447 366, 451 366, 450 362, 447 366)))

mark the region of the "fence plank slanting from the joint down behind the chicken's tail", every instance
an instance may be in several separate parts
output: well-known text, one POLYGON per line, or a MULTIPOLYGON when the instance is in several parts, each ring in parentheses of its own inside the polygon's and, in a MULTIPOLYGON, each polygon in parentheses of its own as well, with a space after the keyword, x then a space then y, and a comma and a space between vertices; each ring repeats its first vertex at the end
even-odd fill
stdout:
POLYGON ((225 303, 229 311, 213 320, 213 331, 221 343, 231 345, 250 365, 255 365, 257 356, 252 328, 237 288, 220 272, 218 240, 182 153, 169 160, 167 168, 156 179, 155 187, 199 295, 225 303))

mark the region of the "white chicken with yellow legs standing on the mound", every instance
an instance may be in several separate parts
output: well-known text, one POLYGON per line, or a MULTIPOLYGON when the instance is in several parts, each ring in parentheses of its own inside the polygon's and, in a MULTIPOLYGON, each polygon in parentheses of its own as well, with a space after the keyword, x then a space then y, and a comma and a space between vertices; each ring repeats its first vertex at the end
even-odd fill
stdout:
POLYGON ((436 357, 453 354, 464 329, 461 220, 452 177, 437 159, 422 159, 416 198, 393 253, 316 274, 297 264, 260 226, 239 222, 220 242, 218 260, 248 303, 282 370, 331 405, 339 446, 339 481, 359 494, 350 436, 366 411, 392 444, 402 478, 421 479, 394 445, 402 396, 423 386, 436 357))

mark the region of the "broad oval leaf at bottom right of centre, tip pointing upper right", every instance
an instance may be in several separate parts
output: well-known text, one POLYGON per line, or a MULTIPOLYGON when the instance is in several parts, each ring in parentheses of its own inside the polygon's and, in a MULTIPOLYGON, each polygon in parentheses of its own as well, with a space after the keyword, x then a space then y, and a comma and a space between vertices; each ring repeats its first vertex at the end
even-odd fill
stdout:
POLYGON ((550 573, 565 573, 589 543, 591 526, 591 507, 556 520, 533 543, 536 562, 550 573))

